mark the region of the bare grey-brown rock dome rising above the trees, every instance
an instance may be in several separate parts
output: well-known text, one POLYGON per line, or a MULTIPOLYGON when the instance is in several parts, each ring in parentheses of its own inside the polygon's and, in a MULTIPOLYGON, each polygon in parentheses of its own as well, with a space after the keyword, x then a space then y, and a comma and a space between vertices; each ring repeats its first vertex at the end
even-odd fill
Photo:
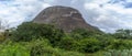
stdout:
POLYGON ((85 22, 78 10, 61 5, 46 8, 33 20, 33 22, 55 24, 65 32, 70 32, 74 29, 96 29, 85 22))

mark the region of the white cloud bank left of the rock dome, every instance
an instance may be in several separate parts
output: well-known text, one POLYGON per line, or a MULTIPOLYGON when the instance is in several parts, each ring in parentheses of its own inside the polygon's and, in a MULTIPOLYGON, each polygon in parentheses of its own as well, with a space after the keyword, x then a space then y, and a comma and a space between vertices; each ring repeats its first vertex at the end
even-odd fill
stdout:
POLYGON ((11 26, 15 26, 24 21, 32 20, 41 10, 47 7, 50 4, 45 3, 44 0, 0 1, 0 18, 2 21, 8 21, 11 26))

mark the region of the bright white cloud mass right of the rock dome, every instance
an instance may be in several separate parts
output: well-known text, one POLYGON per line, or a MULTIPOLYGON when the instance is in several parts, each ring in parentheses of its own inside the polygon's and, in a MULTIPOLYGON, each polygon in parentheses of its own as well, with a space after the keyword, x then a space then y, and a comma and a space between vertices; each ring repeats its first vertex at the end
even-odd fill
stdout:
POLYGON ((124 8, 121 3, 95 1, 84 4, 87 12, 96 13, 96 15, 92 14, 90 21, 89 18, 87 19, 92 25, 105 32, 114 32, 117 29, 132 29, 132 8, 124 8))

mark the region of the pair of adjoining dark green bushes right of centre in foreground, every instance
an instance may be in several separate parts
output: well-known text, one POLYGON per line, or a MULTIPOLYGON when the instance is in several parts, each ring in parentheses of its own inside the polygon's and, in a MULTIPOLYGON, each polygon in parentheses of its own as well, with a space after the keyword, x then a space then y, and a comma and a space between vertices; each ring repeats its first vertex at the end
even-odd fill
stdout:
POLYGON ((77 51, 81 53, 94 53, 101 48, 100 42, 97 38, 84 38, 75 41, 72 37, 64 37, 59 43, 61 48, 68 51, 77 51))

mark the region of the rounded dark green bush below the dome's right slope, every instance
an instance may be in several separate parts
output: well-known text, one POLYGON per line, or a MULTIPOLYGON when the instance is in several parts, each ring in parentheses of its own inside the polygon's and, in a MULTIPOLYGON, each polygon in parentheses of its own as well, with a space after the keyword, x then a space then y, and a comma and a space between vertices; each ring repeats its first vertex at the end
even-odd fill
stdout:
POLYGON ((84 38, 80 41, 80 52, 95 53, 101 48, 100 42, 97 38, 84 38))

